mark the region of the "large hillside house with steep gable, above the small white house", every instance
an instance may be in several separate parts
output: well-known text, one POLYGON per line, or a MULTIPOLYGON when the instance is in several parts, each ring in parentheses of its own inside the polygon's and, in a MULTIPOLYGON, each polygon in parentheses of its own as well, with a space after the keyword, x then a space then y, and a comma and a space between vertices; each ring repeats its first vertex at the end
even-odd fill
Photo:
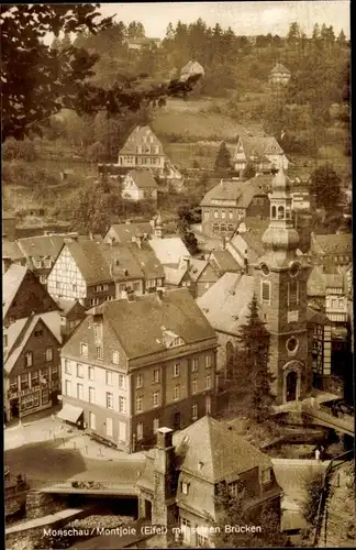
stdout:
POLYGON ((149 127, 136 127, 119 152, 118 164, 127 168, 149 168, 164 174, 165 154, 149 127))

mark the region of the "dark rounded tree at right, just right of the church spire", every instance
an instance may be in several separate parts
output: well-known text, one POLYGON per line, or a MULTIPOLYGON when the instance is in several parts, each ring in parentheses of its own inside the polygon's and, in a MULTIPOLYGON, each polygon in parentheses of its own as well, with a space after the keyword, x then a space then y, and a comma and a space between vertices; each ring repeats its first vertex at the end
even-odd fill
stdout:
POLYGON ((341 198, 341 177, 332 164, 319 166, 310 177, 310 193, 316 205, 326 211, 333 210, 341 198))

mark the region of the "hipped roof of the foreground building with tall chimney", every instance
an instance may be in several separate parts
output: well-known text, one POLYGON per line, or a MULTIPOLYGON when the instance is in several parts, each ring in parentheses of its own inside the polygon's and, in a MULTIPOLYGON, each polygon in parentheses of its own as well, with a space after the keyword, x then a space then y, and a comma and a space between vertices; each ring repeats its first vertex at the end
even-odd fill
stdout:
POLYGON ((236 480, 254 468, 271 468, 270 459, 211 416, 174 435, 180 471, 216 484, 236 480))

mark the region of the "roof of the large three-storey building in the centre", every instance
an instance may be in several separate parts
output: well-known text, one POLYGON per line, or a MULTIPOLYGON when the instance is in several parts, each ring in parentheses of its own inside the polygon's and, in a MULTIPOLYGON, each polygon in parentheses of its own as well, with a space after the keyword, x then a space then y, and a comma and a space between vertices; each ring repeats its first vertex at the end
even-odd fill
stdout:
MULTIPOLYGON (((89 310, 89 315, 93 310, 103 316, 111 329, 114 340, 108 345, 114 348, 119 341, 129 360, 167 351, 164 330, 178 334, 186 344, 215 339, 214 330, 186 288, 167 290, 162 299, 156 294, 146 294, 135 297, 133 301, 107 301, 89 310)), ((84 336, 94 343, 93 333, 87 330, 84 322, 65 344, 63 353, 79 350, 84 336)))

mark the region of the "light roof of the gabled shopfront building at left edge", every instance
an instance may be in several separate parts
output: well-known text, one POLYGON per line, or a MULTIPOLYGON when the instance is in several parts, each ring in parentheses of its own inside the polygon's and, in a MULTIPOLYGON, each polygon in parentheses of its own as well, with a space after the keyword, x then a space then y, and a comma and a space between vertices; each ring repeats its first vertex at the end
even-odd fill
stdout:
POLYGON ((14 323, 10 324, 8 333, 8 354, 4 362, 4 371, 10 374, 15 362, 22 353, 23 348, 26 345, 29 338, 31 337, 34 328, 36 327, 40 319, 46 324, 52 334, 58 341, 62 342, 60 336, 60 312, 49 311, 47 314, 34 315, 27 319, 20 319, 14 323), (11 345, 10 345, 11 340, 11 345))

